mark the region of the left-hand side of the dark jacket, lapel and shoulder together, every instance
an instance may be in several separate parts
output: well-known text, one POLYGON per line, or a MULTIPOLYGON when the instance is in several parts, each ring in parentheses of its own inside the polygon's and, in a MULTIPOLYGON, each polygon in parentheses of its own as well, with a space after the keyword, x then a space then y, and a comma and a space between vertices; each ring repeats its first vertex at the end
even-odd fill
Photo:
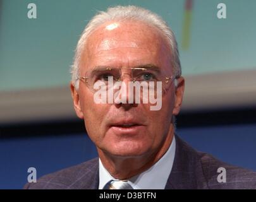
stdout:
POLYGON ((97 189, 99 158, 44 175, 24 189, 97 189))

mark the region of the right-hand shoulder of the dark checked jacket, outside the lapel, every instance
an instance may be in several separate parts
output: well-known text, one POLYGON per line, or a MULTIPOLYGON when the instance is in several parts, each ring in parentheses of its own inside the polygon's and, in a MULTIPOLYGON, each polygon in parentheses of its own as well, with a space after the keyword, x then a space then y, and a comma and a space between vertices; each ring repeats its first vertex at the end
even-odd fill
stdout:
POLYGON ((209 189, 256 189, 256 172, 224 163, 198 151, 209 189))

